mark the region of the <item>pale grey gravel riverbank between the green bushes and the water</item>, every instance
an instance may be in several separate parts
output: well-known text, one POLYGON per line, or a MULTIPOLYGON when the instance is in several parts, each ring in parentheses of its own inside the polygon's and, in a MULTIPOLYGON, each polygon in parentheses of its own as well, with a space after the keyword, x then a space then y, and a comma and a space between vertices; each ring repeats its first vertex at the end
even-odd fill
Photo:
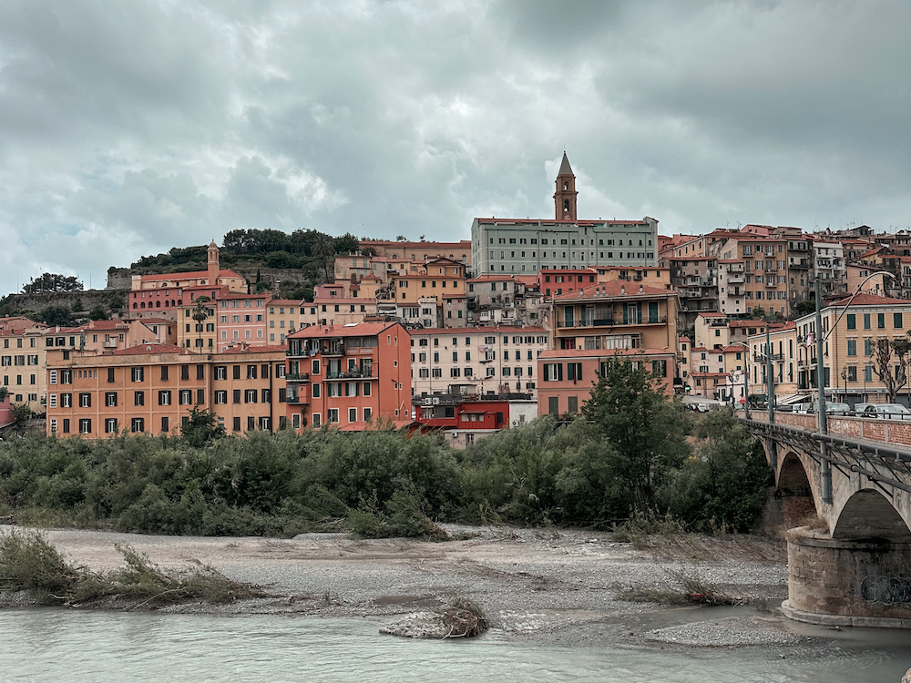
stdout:
POLYGON ((459 594, 483 607, 492 629, 502 637, 567 645, 711 647, 806 641, 774 609, 787 595, 784 547, 779 541, 683 536, 635 547, 614 543, 607 534, 580 530, 446 528, 466 539, 431 543, 353 540, 335 534, 211 538, 76 530, 51 530, 46 536, 74 565, 94 570, 119 566, 121 557, 114 545, 128 544, 159 566, 186 566, 199 560, 278 596, 167 611, 394 621, 459 594), (772 608, 669 610, 621 598, 625 586, 677 587, 675 576, 681 574, 698 575, 720 592, 772 608))

